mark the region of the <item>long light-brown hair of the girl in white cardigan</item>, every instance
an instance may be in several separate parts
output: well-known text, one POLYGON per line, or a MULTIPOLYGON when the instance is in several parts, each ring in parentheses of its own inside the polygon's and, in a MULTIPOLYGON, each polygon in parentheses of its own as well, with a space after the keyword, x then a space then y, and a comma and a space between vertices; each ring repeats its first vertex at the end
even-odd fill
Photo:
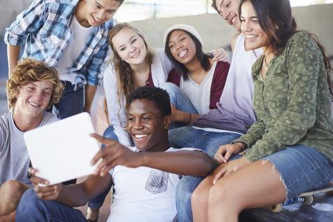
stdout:
MULTIPOLYGON (((127 103, 127 97, 137 87, 139 87, 139 85, 135 84, 135 82, 134 82, 133 69, 130 67, 130 65, 127 62, 121 60, 121 57, 117 53, 117 50, 114 49, 114 46, 113 46, 113 43, 112 43, 112 38, 114 36, 116 36, 121 30, 123 30, 123 28, 132 28, 133 31, 135 31, 135 33, 137 33, 137 35, 139 35, 139 37, 142 38, 142 40, 144 41, 144 45, 146 46, 146 49, 147 49, 147 54, 146 54, 145 60, 146 60, 146 62, 148 63, 149 66, 153 62, 153 56, 154 56, 153 51, 151 51, 148 48, 148 44, 146 42, 146 39, 145 39, 144 35, 133 24, 130 24, 128 22, 119 23, 111 29, 110 35, 109 35, 109 44, 111 46, 112 51, 114 52, 114 56, 113 56, 113 58, 110 62, 114 63, 114 71, 115 71, 115 74, 116 74, 116 77, 117 77, 117 85, 118 85, 118 91, 117 91, 118 98, 117 98, 117 100, 118 100, 118 103, 120 105, 120 109, 118 111, 118 118, 119 118, 120 122, 121 122, 121 118, 119 116, 119 112, 121 110, 121 99, 122 98, 126 99, 125 110, 127 112, 128 106, 129 106, 128 103, 127 103)), ((108 106, 107 106, 107 103, 106 103, 106 99, 104 101, 104 111, 105 111, 106 117, 108 118, 108 122, 109 122, 108 106)))

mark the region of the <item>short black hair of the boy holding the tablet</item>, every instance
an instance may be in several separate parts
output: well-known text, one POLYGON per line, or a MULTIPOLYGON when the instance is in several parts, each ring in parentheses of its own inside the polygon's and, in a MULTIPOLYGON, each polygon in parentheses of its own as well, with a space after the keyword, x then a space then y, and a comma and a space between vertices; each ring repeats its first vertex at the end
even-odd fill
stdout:
POLYGON ((165 89, 159 87, 137 87, 129 96, 128 103, 137 99, 148 99, 155 103, 155 108, 160 110, 162 117, 171 115, 170 97, 165 89))

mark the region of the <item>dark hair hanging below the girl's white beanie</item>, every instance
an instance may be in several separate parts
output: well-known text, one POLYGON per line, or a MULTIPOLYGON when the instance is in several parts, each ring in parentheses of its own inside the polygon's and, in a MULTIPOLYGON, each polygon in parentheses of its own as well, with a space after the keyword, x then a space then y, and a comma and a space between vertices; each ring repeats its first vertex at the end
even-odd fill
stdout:
MULTIPOLYGON (((175 29, 173 31, 176 31, 176 30, 182 30, 182 29, 175 29)), ((167 57, 169 58, 169 60, 174 65, 176 72, 180 76, 182 76, 182 78, 184 78, 184 80, 187 80, 189 78, 189 75, 187 74, 187 69, 186 69, 185 65, 178 62, 175 58, 173 58, 171 51, 169 49, 170 35, 173 33, 173 31, 171 31, 167 35, 167 40, 165 41, 164 51, 167 54, 167 57)), ((185 31, 185 30, 182 30, 182 31, 185 31)), ((194 41, 194 44, 196 45, 196 58, 198 58, 198 60, 200 61, 201 67, 203 67, 203 69, 205 69, 205 71, 207 71, 210 68, 210 60, 208 58, 213 58, 212 53, 205 54, 203 52, 203 46, 201 45, 199 40, 196 37, 194 37, 194 35, 189 33, 188 31, 185 31, 185 33, 187 33, 187 35, 189 35, 189 37, 191 37, 191 39, 194 41)))

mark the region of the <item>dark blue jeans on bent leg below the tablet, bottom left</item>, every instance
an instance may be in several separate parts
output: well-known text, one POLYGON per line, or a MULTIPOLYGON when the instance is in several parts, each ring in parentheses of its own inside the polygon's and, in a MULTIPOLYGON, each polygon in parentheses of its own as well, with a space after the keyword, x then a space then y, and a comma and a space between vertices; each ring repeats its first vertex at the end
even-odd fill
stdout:
POLYGON ((33 189, 28 189, 19 201, 16 221, 87 222, 80 210, 56 200, 41 200, 33 189))

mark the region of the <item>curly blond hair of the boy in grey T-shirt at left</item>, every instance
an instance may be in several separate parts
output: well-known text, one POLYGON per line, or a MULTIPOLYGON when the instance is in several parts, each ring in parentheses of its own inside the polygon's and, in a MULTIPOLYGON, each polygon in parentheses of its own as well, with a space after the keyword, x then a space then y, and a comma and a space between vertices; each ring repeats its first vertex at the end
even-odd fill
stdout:
POLYGON ((38 81, 51 81, 53 83, 51 98, 46 108, 50 108, 51 105, 58 103, 62 96, 62 90, 65 89, 59 79, 58 71, 52 67, 48 67, 43 62, 33 58, 26 58, 19 61, 7 80, 6 92, 10 105, 12 107, 16 105, 21 87, 38 81))

